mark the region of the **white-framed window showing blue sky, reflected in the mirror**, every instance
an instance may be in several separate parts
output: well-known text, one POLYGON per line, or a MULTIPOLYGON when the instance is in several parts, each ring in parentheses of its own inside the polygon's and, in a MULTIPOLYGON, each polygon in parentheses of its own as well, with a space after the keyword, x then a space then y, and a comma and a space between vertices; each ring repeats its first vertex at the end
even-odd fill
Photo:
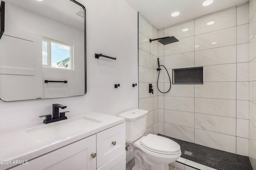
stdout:
POLYGON ((44 67, 72 70, 72 54, 73 45, 50 39, 42 41, 42 64, 44 67))

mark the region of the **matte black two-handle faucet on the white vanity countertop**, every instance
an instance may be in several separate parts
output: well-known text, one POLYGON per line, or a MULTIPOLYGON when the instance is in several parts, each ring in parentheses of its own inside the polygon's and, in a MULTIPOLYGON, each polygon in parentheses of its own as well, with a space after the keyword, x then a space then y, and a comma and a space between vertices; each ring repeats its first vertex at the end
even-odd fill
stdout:
POLYGON ((52 115, 48 114, 48 115, 42 115, 39 117, 45 116, 45 119, 43 121, 43 123, 45 123, 45 124, 68 119, 68 117, 65 116, 65 113, 67 113, 69 111, 59 112, 59 108, 64 109, 66 107, 67 106, 64 106, 61 104, 52 104, 52 115))

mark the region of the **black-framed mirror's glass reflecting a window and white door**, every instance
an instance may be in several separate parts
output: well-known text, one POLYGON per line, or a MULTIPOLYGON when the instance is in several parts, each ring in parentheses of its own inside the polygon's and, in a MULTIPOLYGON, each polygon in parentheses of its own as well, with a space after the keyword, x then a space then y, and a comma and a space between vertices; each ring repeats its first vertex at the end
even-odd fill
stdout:
POLYGON ((85 8, 74 0, 4 0, 3 101, 86 93, 85 8))

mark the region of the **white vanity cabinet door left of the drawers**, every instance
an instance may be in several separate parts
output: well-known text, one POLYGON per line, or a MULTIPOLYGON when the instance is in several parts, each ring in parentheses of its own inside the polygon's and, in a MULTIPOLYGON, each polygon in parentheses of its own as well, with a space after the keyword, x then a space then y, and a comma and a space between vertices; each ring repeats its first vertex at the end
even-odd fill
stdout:
POLYGON ((96 135, 44 154, 12 170, 96 170, 96 135))

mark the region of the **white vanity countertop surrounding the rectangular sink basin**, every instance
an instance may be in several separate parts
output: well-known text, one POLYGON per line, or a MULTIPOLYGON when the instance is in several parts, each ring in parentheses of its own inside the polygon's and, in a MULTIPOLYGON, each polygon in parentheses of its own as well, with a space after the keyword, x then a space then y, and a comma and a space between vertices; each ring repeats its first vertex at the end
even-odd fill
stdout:
POLYGON ((98 121, 102 121, 95 125, 92 125, 83 131, 74 132, 72 136, 64 135, 62 137, 56 137, 54 139, 48 139, 46 141, 36 141, 33 137, 28 135, 26 131, 28 129, 40 129, 46 126, 51 126, 53 123, 44 124, 40 123, 34 127, 22 127, 21 129, 6 129, 4 133, 0 135, 0 170, 5 170, 17 164, 12 164, 13 161, 28 161, 43 154, 46 154, 52 150, 64 147, 70 143, 76 142, 80 139, 123 123, 125 121, 122 117, 107 115, 94 111, 89 111, 84 114, 75 115, 72 119, 66 119, 57 121, 54 123, 66 123, 79 117, 89 117, 98 121), (66 122, 65 122, 66 121, 66 122), (7 164, 10 163, 10 164, 7 164))

